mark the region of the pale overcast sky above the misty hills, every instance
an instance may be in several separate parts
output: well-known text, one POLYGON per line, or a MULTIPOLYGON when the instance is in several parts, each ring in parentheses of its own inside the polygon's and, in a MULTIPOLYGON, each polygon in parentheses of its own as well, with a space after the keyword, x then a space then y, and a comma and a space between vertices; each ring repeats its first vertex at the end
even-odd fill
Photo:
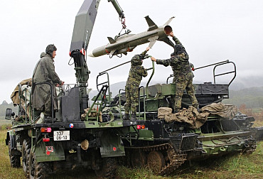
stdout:
MULTIPOLYGON (((65 83, 75 83, 73 65, 68 65, 70 43, 75 16, 83 0, 9 0, 0 6, 0 103, 11 102, 10 95, 18 82, 32 77, 33 69, 45 47, 54 43, 57 50, 55 70, 65 83)), ((263 77, 263 1, 261 0, 118 0, 124 10, 127 28, 132 33, 146 31, 144 16, 149 15, 157 26, 176 16, 170 26, 173 33, 185 46, 190 62, 195 67, 222 60, 231 60, 237 65, 237 80, 246 77, 263 77)), ((106 45, 107 36, 121 31, 117 12, 107 0, 101 0, 87 52, 106 45)), ((136 53, 141 53, 148 44, 140 45, 122 58, 104 55, 87 58, 91 71, 89 87, 95 89, 99 72, 119 65, 136 53)), ((167 59, 173 49, 157 42, 149 51, 155 58, 167 59)), ((127 80, 130 65, 109 71, 110 82, 127 80)), ((144 61, 151 67, 151 60, 144 61)), ((195 80, 211 81, 212 70, 195 71, 195 80)), ((154 81, 165 82, 172 73, 171 67, 156 66, 154 81)), ((148 80, 146 77, 145 80, 148 80)))

